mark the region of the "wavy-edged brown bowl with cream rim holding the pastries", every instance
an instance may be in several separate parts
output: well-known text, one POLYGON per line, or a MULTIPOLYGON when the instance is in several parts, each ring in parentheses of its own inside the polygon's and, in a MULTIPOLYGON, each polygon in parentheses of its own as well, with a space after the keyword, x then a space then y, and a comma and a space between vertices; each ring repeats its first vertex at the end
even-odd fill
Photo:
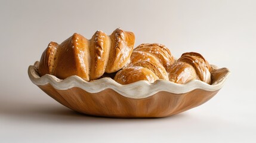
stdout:
POLYGON ((192 80, 184 85, 156 80, 121 85, 110 77, 86 82, 81 77, 66 79, 38 75, 39 62, 29 66, 30 80, 54 100, 79 113, 104 117, 166 117, 197 107, 210 100, 229 76, 226 68, 212 66, 212 84, 192 80))

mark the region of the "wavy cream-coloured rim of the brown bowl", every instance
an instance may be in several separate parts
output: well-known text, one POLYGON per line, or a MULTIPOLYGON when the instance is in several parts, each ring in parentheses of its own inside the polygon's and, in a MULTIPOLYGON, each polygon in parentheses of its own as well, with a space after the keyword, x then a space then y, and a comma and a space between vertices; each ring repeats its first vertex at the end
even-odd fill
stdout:
POLYGON ((50 85, 55 89, 59 90, 78 87, 90 93, 101 92, 104 91, 104 89, 113 89, 124 97, 135 99, 147 98, 160 91, 170 92, 173 94, 184 94, 193 91, 194 89, 217 91, 224 86, 224 82, 230 74, 230 71, 227 69, 227 73, 218 80, 218 82, 215 82, 212 85, 208 85, 201 80, 191 80, 184 85, 169 82, 167 80, 156 80, 154 83, 149 83, 146 80, 140 80, 128 85, 121 85, 110 77, 104 77, 91 82, 87 82, 79 76, 70 76, 66 79, 58 79, 53 75, 45 74, 40 77, 36 71, 38 66, 39 61, 36 61, 35 64, 33 66, 29 66, 28 69, 29 78, 35 85, 47 85, 50 83, 50 85))

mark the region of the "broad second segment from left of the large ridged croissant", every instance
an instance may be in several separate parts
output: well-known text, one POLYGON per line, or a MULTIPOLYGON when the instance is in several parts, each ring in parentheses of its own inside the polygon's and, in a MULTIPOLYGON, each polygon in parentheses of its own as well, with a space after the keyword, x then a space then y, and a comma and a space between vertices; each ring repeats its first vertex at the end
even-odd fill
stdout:
POLYGON ((89 80, 88 40, 74 33, 57 47, 53 75, 60 79, 77 75, 89 80))

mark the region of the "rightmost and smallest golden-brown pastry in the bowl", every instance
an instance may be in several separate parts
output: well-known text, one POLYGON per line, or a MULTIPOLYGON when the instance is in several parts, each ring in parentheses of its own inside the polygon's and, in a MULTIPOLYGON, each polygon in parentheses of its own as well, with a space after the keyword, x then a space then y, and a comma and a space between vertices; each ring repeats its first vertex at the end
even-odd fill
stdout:
POLYGON ((186 52, 168 67, 169 81, 184 84, 193 79, 211 83, 211 66, 201 54, 196 52, 186 52))

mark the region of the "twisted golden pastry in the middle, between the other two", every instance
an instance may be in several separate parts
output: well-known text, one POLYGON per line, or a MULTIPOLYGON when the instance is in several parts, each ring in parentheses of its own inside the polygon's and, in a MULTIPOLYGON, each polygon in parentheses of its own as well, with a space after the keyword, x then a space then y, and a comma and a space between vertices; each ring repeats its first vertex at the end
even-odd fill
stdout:
POLYGON ((157 79, 169 80, 165 70, 174 63, 171 52, 159 43, 143 43, 131 54, 127 67, 118 71, 114 80, 122 85, 147 80, 150 83, 157 79))

